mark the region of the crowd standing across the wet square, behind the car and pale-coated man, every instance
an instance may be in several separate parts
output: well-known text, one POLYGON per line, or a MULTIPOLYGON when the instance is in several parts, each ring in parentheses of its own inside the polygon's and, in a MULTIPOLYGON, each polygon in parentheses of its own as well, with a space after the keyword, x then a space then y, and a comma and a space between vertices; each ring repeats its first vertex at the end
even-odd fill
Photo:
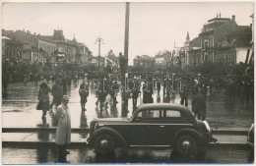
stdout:
MULTIPOLYGON (((56 108, 61 104, 62 96, 68 94, 68 89, 73 81, 80 84, 79 95, 82 111, 86 111, 90 89, 96 93, 96 105, 99 105, 100 114, 102 114, 103 108, 107 108, 109 104, 118 103, 116 99, 118 93, 122 95, 123 108, 127 109, 128 100, 131 98, 133 111, 135 111, 138 107, 139 94, 142 94, 142 103, 154 103, 153 94, 156 92, 158 95, 155 102, 160 102, 160 91, 162 91, 162 102, 166 103, 174 101, 175 95, 179 94, 180 104, 188 107, 188 98, 190 97, 195 116, 205 120, 206 100, 211 100, 218 93, 224 93, 227 102, 234 102, 235 96, 247 102, 253 101, 253 78, 241 77, 206 77, 200 74, 129 74, 123 84, 119 75, 98 74, 92 77, 89 74, 60 73, 54 77, 43 78, 44 82, 39 85, 37 109, 42 110, 42 119, 44 119, 47 110, 52 110, 53 106, 56 108), (47 78, 54 82, 51 88, 47 85, 49 81, 47 78), (48 97, 49 92, 53 96, 51 103, 48 97)), ((36 82, 34 81, 34 84, 36 82)))

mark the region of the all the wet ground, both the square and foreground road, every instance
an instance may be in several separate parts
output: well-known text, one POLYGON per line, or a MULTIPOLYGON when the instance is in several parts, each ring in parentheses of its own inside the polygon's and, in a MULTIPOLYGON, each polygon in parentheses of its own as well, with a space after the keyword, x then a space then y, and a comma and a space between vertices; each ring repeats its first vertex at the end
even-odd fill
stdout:
MULTIPOLYGON (((50 83, 52 86, 52 83, 50 83)), ((72 128, 86 128, 96 117, 120 117, 121 116, 121 95, 117 96, 117 105, 104 108, 102 115, 99 114, 96 107, 96 94, 91 90, 86 105, 87 111, 82 112, 80 107, 79 84, 72 83, 69 91, 71 95, 70 110, 72 111, 72 128)), ((41 111, 35 110, 37 104, 38 86, 32 83, 12 83, 8 87, 9 97, 2 103, 2 128, 5 127, 37 127, 41 124, 41 111)), ((162 91, 160 92, 162 96, 162 91)), ((51 99, 52 96, 50 95, 51 99)), ((139 97, 138 104, 142 102, 142 96, 139 97)), ((157 102, 157 93, 154 93, 154 101, 157 102)), ((162 97, 160 98, 160 102, 162 97)), ((112 102, 111 100, 109 101, 112 102)), ((180 97, 176 94, 171 102, 179 104, 180 97)), ((191 108, 191 98, 188 101, 191 108)), ((132 110, 132 101, 129 100, 129 110, 132 110)), ((130 117, 132 111, 128 113, 130 117)), ((211 127, 225 129, 248 129, 253 123, 254 113, 253 104, 245 104, 237 99, 234 104, 225 101, 224 94, 218 94, 207 101, 207 121, 211 127)), ((52 126, 52 116, 47 114, 47 123, 52 126)), ((17 134, 10 133, 2 136, 3 139, 37 141, 38 134, 17 134), (10 139, 11 138, 11 139, 10 139)), ((87 135, 73 134, 72 138, 85 142, 87 135)), ((41 139, 41 138, 39 138, 41 139)), ((49 135, 49 140, 54 141, 54 134, 49 135)), ((245 141, 245 138, 238 138, 245 141)), ((230 139, 228 139, 230 140, 230 139)), ((205 156, 191 156, 183 158, 173 154, 169 149, 117 149, 110 155, 97 155, 94 149, 81 144, 77 148, 70 149, 67 157, 71 164, 85 163, 247 163, 250 150, 247 148, 236 147, 212 147, 207 150, 205 156)), ((4 164, 38 164, 55 163, 58 151, 54 145, 19 148, 16 146, 5 146, 2 149, 2 162, 4 164)))

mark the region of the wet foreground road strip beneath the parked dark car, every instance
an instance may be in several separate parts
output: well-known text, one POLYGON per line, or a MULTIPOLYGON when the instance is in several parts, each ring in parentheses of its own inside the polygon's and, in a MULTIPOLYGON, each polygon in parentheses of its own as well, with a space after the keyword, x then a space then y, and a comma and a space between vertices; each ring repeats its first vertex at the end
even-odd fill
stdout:
MULTIPOLYGON (((108 155, 98 155, 90 147, 69 149, 69 164, 88 163, 218 163, 243 164, 251 161, 250 150, 241 147, 211 147, 205 154, 182 157, 171 149, 116 149, 108 155)), ((54 164, 57 148, 37 145, 36 148, 3 148, 3 164, 54 164)))

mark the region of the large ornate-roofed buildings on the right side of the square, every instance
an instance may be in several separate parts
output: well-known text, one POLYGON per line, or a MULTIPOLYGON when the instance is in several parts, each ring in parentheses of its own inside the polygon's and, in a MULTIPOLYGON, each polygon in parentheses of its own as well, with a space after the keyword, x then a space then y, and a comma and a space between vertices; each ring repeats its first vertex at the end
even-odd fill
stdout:
POLYGON ((185 65, 197 66, 205 61, 237 64, 245 61, 251 37, 251 27, 238 26, 235 23, 235 16, 228 19, 221 18, 220 15, 209 20, 199 36, 192 41, 186 37, 181 55, 184 56, 185 65))

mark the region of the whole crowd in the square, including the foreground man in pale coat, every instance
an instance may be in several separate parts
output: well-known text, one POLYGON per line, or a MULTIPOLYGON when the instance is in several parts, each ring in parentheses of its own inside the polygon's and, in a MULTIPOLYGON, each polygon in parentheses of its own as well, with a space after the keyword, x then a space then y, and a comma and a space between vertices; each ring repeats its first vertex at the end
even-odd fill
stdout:
MULTIPOLYGON (((7 95, 7 84, 3 78, 4 95, 7 95)), ((205 120, 207 107, 206 101, 224 93, 229 103, 237 99, 246 102, 254 101, 253 77, 242 76, 202 76, 200 74, 154 74, 136 73, 126 75, 125 82, 118 74, 103 73, 44 73, 24 75, 24 84, 32 82, 39 87, 37 110, 42 111, 42 122, 46 124, 47 111, 53 115, 52 125, 57 127, 56 144, 59 148, 59 161, 66 161, 66 145, 70 143, 71 118, 68 102, 71 85, 74 83, 79 88, 81 111, 85 114, 88 96, 94 91, 96 94, 96 106, 102 114, 103 108, 109 105, 113 107, 118 103, 117 95, 122 96, 122 108, 128 111, 128 101, 132 100, 133 111, 138 108, 138 98, 142 96, 142 103, 174 102, 176 95, 180 95, 180 104, 189 106, 189 98, 192 100, 191 109, 197 119, 205 120), (53 85, 50 87, 50 83, 53 85), (154 100, 157 94, 157 101, 154 100), (52 95, 50 101, 49 95, 52 95), (53 111, 55 110, 55 111, 53 111), (65 117, 65 118, 64 118, 65 117)), ((119 101, 120 102, 120 101, 119 101)), ((123 111, 123 110, 122 110, 123 111)), ((125 115, 125 114, 122 114, 125 115)))

